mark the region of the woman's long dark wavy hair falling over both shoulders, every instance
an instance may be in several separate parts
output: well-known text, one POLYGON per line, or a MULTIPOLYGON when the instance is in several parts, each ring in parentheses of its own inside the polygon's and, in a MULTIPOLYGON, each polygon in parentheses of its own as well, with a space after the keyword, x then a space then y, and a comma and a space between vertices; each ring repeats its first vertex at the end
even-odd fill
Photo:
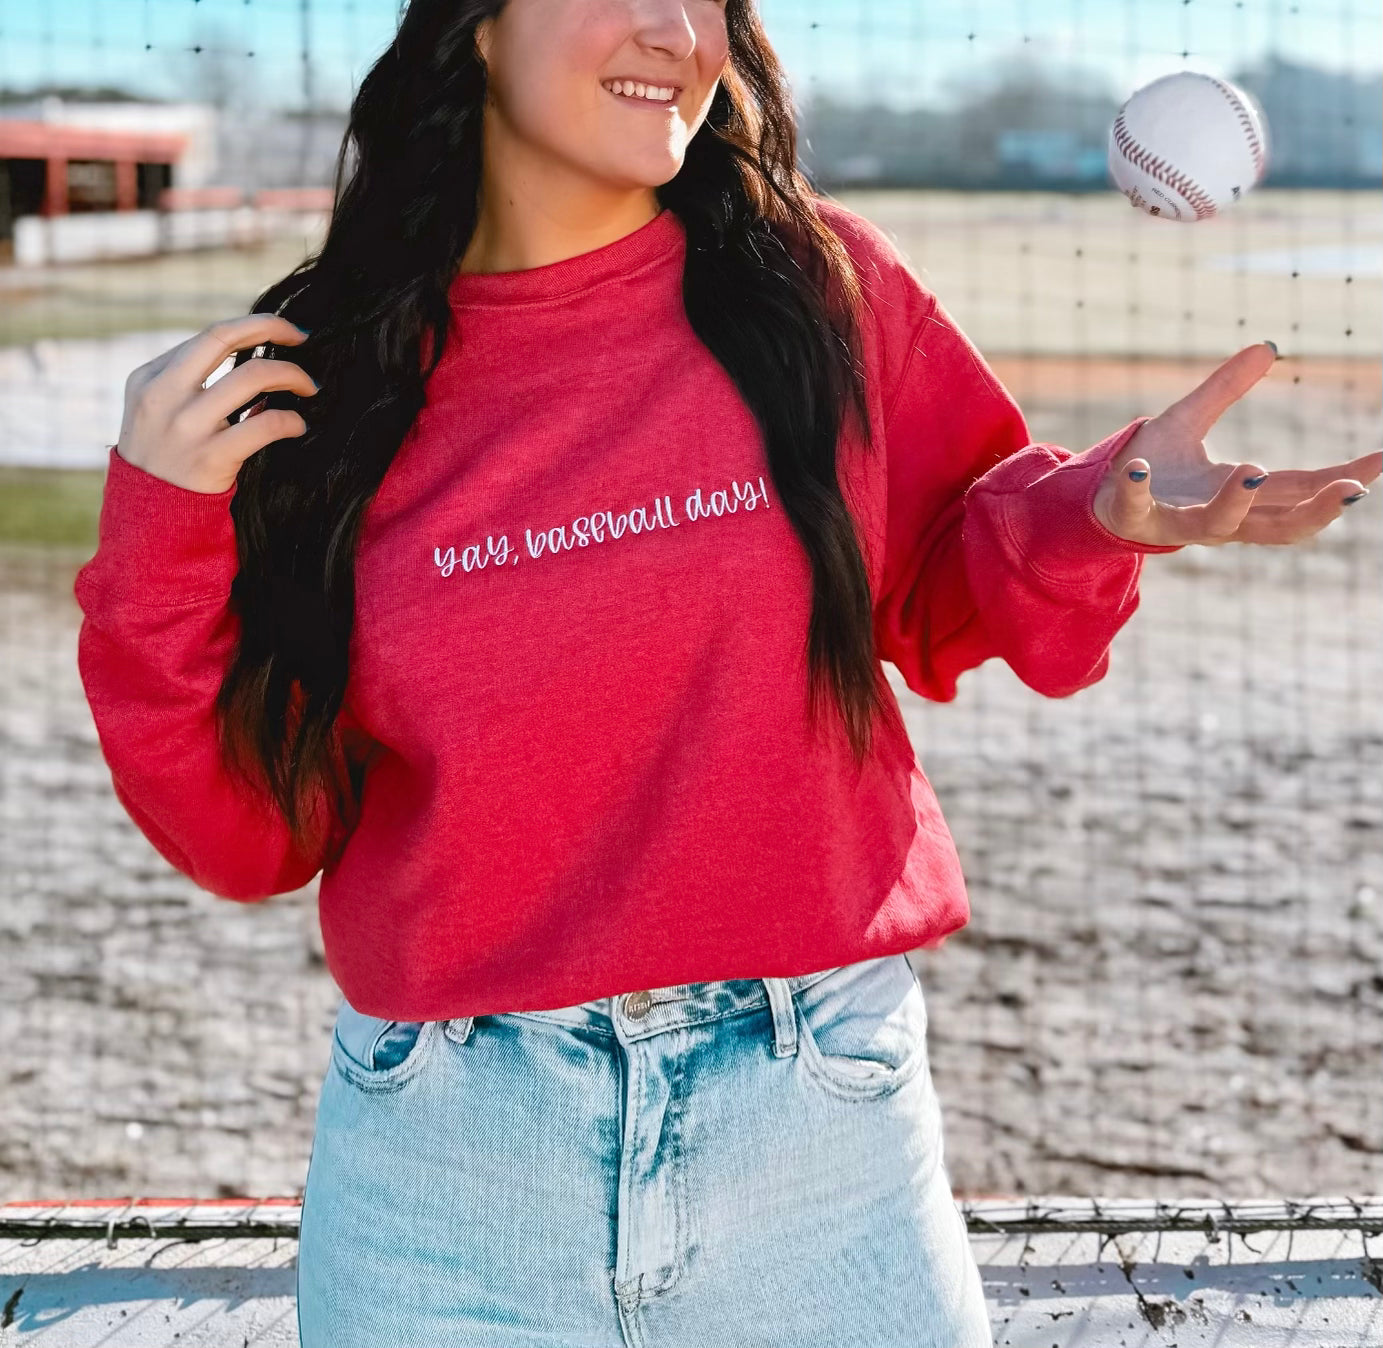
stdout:
MULTIPOLYGON (((227 763, 267 784, 297 846, 319 856, 328 845, 328 865, 364 785, 365 763, 337 720, 360 524, 451 325, 447 292, 476 227, 481 171, 485 69, 474 30, 503 3, 411 0, 351 104, 321 249, 252 308, 311 332, 286 358, 321 391, 268 395, 268 406, 299 411, 307 431, 250 455, 236 477, 241 633, 219 727, 227 763)), ((828 686, 859 762, 885 695, 864 559, 837 478, 852 411, 873 442, 862 292, 797 167, 790 86, 754 0, 729 0, 726 22, 726 72, 657 198, 686 228, 687 319, 754 413, 810 560, 809 712, 828 686)))

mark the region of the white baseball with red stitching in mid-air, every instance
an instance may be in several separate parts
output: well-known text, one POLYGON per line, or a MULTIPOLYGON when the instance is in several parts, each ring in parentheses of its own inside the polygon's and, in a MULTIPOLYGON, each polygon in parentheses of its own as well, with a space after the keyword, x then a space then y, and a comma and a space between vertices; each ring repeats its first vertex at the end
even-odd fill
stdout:
POLYGON ((1257 100, 1213 75, 1178 71, 1144 84, 1109 129, 1109 171, 1130 203, 1163 220, 1206 220, 1268 166, 1257 100))

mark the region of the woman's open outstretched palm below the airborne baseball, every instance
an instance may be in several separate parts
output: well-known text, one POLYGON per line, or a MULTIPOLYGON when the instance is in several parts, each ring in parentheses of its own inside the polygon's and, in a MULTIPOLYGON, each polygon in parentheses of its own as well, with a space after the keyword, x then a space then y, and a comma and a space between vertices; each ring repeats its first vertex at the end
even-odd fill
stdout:
POLYGON ((1346 498, 1361 494, 1383 471, 1383 452, 1324 469, 1275 473, 1256 463, 1212 463, 1206 455, 1206 433, 1277 358, 1271 343, 1256 341, 1144 422, 1109 462, 1095 491, 1099 523, 1138 543, 1218 546, 1297 543, 1336 518, 1346 498), (1141 481, 1129 476, 1140 470, 1141 481))

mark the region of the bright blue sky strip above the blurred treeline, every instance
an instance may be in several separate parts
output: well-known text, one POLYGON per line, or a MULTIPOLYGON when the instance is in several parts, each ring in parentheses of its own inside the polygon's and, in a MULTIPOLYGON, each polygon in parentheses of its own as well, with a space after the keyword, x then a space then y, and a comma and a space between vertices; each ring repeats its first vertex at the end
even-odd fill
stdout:
MULTIPOLYGON (((400 0, 0 0, 0 84, 105 84, 196 97, 203 48, 277 106, 344 108, 400 0)), ((1383 66, 1377 0, 759 0, 798 100, 815 90, 945 105, 1015 55, 1123 101, 1169 71, 1229 76, 1268 51, 1335 71, 1383 66)))

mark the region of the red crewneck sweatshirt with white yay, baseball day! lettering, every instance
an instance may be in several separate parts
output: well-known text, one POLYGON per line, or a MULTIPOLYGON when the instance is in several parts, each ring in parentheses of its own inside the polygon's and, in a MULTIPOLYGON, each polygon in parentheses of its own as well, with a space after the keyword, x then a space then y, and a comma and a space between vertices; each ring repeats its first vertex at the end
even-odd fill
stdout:
MULTIPOLYGON (((1145 552, 1091 510, 1144 420, 1083 453, 1022 412, 873 224, 862 272, 875 453, 841 481, 877 654, 936 701, 999 657, 1036 693, 1101 679, 1145 552)), ((676 214, 527 271, 458 274, 427 402, 357 557, 343 724, 372 762, 319 885, 326 959, 368 1015, 441 1019, 935 944, 969 918, 896 700, 856 771, 806 719, 810 572, 754 418, 682 308, 676 214)), ((219 758, 238 619, 227 509, 111 447, 75 595, 116 795, 199 886, 306 885, 219 758)))

